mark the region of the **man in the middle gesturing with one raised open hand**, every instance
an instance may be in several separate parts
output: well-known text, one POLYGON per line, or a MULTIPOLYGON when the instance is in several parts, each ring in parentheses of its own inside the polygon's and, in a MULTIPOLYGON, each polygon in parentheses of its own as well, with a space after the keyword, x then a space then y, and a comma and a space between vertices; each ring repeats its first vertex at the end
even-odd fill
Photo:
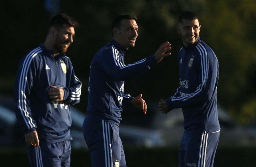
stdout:
POLYGON ((171 49, 163 43, 154 55, 136 63, 125 65, 124 55, 134 47, 138 36, 137 18, 121 14, 112 22, 112 40, 93 57, 88 87, 88 107, 83 133, 89 148, 92 167, 126 166, 124 149, 119 137, 122 105, 141 108, 147 105, 142 94, 132 97, 124 94, 124 80, 146 72, 160 62, 171 49))

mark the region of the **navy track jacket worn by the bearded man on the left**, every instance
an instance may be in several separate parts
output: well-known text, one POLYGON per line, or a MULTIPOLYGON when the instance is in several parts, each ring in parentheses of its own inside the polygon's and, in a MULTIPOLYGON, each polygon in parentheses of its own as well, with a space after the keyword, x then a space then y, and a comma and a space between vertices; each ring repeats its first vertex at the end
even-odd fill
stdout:
POLYGON ((64 53, 54 57, 43 44, 30 51, 19 62, 14 88, 16 118, 24 134, 36 130, 41 144, 72 139, 69 104, 80 102, 81 86, 64 53), (64 101, 50 100, 50 85, 63 87, 64 101))

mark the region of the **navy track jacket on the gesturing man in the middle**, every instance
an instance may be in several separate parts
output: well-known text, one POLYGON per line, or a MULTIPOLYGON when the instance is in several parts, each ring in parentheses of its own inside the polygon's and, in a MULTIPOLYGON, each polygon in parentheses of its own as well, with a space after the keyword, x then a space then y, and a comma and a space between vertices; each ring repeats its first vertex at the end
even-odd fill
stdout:
POLYGON ((124 80, 131 79, 155 65, 154 55, 136 63, 125 65, 124 55, 129 50, 111 40, 93 57, 88 87, 86 117, 100 115, 119 125, 122 105, 131 105, 132 96, 124 94, 124 80), (92 115, 93 114, 93 115, 92 115))

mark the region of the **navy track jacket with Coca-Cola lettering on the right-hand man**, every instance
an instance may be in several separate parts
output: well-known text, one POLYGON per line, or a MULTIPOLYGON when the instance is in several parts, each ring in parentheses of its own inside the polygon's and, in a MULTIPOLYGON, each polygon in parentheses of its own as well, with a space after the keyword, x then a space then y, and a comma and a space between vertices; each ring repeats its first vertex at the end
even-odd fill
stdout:
POLYGON ((169 110, 182 108, 188 133, 220 130, 217 112, 219 63, 212 49, 199 39, 180 49, 180 87, 166 99, 169 110))

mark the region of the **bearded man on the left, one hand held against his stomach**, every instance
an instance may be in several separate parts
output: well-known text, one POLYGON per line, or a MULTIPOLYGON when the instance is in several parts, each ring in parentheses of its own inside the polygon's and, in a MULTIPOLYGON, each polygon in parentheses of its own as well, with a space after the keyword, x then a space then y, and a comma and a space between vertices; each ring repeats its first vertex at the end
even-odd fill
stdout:
POLYGON ((80 102, 82 83, 65 55, 78 23, 52 17, 44 44, 19 62, 14 96, 31 167, 70 166, 70 106, 80 102))

